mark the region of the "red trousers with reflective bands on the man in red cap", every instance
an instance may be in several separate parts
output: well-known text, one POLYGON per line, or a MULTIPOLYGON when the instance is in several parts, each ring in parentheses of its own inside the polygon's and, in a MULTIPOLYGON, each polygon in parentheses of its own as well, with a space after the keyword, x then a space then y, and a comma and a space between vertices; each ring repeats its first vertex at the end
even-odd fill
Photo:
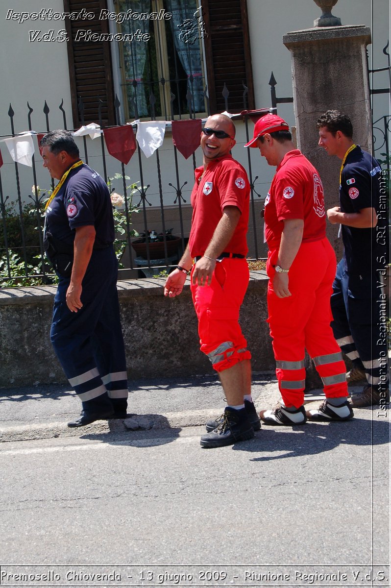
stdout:
POLYGON ((273 265, 278 250, 269 252, 268 311, 276 359, 276 375, 287 407, 302 406, 305 389, 305 349, 323 381, 326 397, 347 396, 345 363, 330 322, 330 296, 336 271, 335 253, 325 238, 302 243, 289 269, 292 296, 273 291, 273 265))

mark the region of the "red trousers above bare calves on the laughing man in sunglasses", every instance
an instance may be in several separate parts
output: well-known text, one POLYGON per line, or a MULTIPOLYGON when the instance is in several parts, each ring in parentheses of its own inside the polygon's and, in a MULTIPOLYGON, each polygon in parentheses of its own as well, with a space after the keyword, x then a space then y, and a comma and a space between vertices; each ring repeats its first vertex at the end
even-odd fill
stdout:
POLYGON ((191 286, 200 349, 216 372, 251 358, 239 325, 239 310, 248 283, 246 259, 225 258, 216 263, 210 286, 191 286))

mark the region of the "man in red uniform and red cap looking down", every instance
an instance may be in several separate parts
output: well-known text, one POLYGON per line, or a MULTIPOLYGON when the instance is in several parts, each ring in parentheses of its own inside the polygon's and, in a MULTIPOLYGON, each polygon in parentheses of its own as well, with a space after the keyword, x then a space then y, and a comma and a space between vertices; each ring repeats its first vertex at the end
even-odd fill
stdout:
POLYGON ((282 402, 259 416, 268 425, 302 425, 310 420, 347 420, 345 364, 333 337, 330 295, 335 253, 326 239, 323 186, 313 165, 295 149, 289 126, 277 115, 256 122, 252 141, 269 165, 277 166, 265 200, 269 246, 268 322, 282 402), (303 407, 305 349, 322 377, 326 400, 303 407))

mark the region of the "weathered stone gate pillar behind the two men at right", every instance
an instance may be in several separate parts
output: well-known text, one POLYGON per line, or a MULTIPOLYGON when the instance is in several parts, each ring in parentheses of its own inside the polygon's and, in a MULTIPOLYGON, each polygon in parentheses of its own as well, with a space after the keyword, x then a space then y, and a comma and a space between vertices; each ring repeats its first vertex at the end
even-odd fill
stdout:
MULTIPOLYGON (((292 56, 293 99, 298 147, 318 169, 325 188, 326 208, 338 203, 340 159, 318 146, 316 120, 329 109, 346 112, 353 124, 353 140, 370 151, 371 112, 366 26, 333 26, 289 32, 283 44, 292 56)), ((327 223, 327 236, 340 258, 337 226, 327 223)))

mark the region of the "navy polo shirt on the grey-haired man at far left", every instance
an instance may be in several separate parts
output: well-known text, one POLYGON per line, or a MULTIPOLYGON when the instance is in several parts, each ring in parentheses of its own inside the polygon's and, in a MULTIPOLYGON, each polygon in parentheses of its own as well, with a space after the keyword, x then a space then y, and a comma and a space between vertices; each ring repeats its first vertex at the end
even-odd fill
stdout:
POLYGON ((88 165, 72 169, 64 185, 46 209, 46 230, 56 239, 73 244, 75 229, 92 225, 94 249, 114 241, 113 209, 109 189, 98 172, 88 165))

